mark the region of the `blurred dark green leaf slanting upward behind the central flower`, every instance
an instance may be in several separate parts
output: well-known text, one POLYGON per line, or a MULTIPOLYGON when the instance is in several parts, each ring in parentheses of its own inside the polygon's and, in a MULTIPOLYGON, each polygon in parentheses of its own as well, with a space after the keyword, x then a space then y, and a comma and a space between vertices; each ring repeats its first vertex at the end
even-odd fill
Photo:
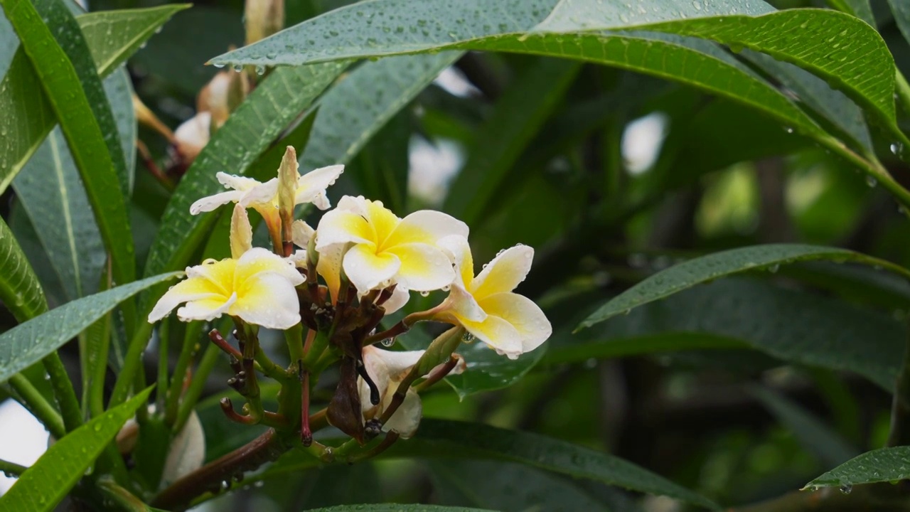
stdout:
POLYGON ((539 59, 497 101, 480 127, 464 168, 452 181, 443 210, 469 226, 480 220, 522 151, 581 70, 577 62, 539 59))

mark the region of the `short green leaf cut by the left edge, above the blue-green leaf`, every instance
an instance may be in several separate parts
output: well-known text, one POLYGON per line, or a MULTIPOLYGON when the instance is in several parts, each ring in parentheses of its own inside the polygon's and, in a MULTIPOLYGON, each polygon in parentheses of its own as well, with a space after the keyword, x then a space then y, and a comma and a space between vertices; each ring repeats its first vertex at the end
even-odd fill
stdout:
POLYGON ((41 283, 3 219, 0 219, 0 263, 4 269, 0 274, 0 302, 15 319, 25 322, 47 311, 41 283))

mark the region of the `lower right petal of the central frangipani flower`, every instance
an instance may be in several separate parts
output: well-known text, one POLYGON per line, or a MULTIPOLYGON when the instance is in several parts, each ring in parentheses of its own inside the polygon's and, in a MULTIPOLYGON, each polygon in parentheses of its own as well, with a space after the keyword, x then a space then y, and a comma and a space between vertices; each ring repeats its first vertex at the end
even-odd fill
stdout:
POLYGON ((426 243, 408 243, 390 247, 382 254, 394 254, 401 262, 395 282, 408 290, 430 292, 449 286, 455 271, 445 252, 426 243))

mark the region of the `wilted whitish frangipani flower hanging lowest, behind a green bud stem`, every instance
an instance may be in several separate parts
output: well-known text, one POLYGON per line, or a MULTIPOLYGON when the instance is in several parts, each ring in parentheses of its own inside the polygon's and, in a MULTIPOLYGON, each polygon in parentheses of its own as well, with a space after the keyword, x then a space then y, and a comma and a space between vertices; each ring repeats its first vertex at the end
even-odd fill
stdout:
MULTIPOLYGON (((401 384, 401 380, 420 361, 420 356, 423 353, 424 351, 422 350, 393 352, 382 350, 372 345, 363 347, 363 365, 367 370, 367 374, 369 374, 369 377, 373 379, 379 389, 380 394, 379 404, 370 404, 369 385, 362 378, 358 379, 360 406, 363 409, 365 422, 372 418, 379 418, 389 408, 389 404, 391 404, 392 397, 395 395, 395 390, 398 389, 399 384, 401 384)), ((460 374, 464 372, 465 368, 464 359, 459 357, 459 363, 449 374, 460 374)), ((408 439, 417 432, 422 412, 423 407, 420 404, 420 395, 413 389, 408 388, 404 402, 389 417, 389 421, 382 425, 382 431, 395 432, 402 439, 408 439)))

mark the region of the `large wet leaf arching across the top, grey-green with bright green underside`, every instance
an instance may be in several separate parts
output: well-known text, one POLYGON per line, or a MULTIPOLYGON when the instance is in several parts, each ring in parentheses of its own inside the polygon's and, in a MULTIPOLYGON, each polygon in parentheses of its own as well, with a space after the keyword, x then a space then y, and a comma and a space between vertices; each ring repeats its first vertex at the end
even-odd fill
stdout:
POLYGON ((895 124, 894 59, 875 28, 852 15, 822 9, 771 12, 763 2, 636 5, 596 0, 502 3, 401 0, 351 5, 313 18, 257 44, 212 59, 215 64, 299 65, 350 57, 441 49, 490 49, 499 40, 545 33, 551 47, 575 43, 581 31, 645 28, 747 47, 804 67, 843 87, 895 124), (481 16, 480 13, 483 13, 481 16), (544 17, 545 16, 545 17, 544 17), (684 19, 680 19, 684 18, 684 19), (369 25, 365 20, 369 19, 369 25), (863 62, 863 66, 855 66, 863 62))

